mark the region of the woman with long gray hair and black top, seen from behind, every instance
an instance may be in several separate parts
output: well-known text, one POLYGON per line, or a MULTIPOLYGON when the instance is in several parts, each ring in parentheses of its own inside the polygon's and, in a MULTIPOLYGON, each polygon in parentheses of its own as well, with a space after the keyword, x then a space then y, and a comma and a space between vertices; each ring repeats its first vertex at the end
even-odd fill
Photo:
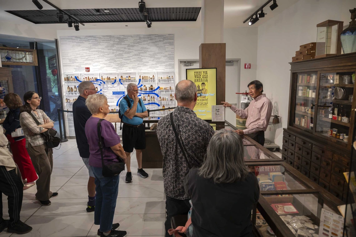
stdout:
POLYGON ((189 171, 184 188, 192 199, 195 237, 253 236, 251 211, 260 188, 244 163, 237 133, 221 129, 214 134, 203 165, 189 171))

